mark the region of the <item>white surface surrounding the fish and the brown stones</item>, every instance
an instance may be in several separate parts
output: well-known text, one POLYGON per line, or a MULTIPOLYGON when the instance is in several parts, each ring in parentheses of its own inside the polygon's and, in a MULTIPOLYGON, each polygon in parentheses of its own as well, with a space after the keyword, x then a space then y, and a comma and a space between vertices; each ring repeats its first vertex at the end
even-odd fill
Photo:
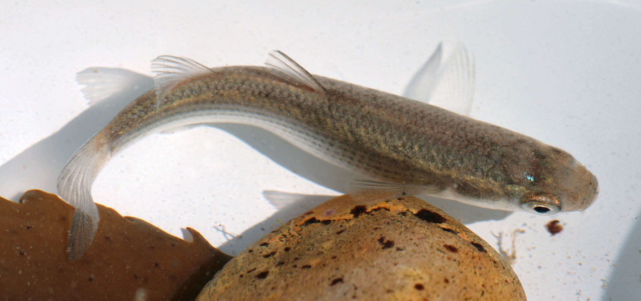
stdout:
MULTIPOLYGON (((601 193, 586 211, 553 217, 430 202, 496 248, 492 233, 524 230, 513 268, 529 300, 638 298, 641 5, 427 2, 5 2, 0 195, 54 192, 72 152, 149 85, 140 77, 138 90, 89 107, 74 81, 87 67, 151 76, 149 61, 162 54, 215 67, 261 65, 280 49, 313 74, 401 94, 438 42, 463 42, 476 60, 472 117, 569 151, 597 175, 601 193), (556 236, 544 229, 553 218, 565 225, 556 236)), ((286 221, 342 188, 336 168, 271 134, 221 127, 232 134, 197 127, 133 145, 104 168, 94 199, 178 236, 180 227, 194 227, 237 254, 276 218, 286 221), (277 212, 265 195, 304 200, 277 212)))

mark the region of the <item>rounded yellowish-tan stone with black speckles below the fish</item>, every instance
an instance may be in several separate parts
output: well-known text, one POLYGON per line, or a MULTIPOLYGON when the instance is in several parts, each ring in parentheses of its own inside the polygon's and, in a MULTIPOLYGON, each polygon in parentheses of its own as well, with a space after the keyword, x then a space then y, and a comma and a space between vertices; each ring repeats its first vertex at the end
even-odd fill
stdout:
POLYGON ((525 300, 488 243, 415 197, 349 195, 294 218, 238 254, 197 300, 525 300))

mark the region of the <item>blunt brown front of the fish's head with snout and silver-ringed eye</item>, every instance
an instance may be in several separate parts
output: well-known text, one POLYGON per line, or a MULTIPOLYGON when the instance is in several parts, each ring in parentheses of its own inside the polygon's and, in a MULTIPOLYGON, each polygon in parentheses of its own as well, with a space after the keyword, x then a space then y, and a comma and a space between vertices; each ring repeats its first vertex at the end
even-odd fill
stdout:
POLYGON ((561 211, 583 211, 597 198, 597 178, 567 152, 542 145, 533 152, 526 193, 520 207, 538 215, 561 211))

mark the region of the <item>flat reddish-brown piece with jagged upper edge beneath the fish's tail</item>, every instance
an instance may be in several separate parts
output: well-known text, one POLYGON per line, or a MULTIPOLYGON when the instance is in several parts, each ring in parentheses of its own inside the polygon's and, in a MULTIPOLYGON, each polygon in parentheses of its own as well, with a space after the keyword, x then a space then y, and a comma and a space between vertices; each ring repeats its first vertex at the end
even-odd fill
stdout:
POLYGON ((3 300, 193 300, 231 259, 194 229, 187 228, 188 242, 98 205, 96 238, 71 262, 65 248, 74 208, 39 190, 21 203, 0 198, 3 300))

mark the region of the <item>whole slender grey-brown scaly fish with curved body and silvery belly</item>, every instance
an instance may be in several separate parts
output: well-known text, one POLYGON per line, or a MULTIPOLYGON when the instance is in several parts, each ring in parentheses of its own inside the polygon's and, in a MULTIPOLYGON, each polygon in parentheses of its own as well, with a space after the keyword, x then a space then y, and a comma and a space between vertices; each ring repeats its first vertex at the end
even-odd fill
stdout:
POLYGON ((58 177, 61 197, 76 207, 71 260, 96 234, 100 217, 91 188, 106 162, 147 134, 190 124, 262 127, 362 174, 352 190, 381 198, 428 194, 553 214, 586 209, 597 196, 596 177, 561 149, 424 102, 313 76, 279 51, 267 67, 209 69, 159 56, 152 69, 156 88, 92 136, 58 177))

